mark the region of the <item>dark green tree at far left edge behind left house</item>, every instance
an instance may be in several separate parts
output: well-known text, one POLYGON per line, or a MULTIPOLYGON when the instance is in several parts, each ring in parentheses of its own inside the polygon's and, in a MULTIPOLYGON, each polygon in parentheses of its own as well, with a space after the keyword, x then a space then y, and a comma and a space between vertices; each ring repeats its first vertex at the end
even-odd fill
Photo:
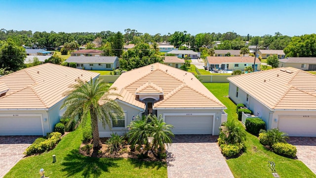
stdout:
POLYGON ((12 39, 8 38, 4 42, 0 42, 0 68, 17 71, 24 67, 26 51, 16 44, 12 39))

